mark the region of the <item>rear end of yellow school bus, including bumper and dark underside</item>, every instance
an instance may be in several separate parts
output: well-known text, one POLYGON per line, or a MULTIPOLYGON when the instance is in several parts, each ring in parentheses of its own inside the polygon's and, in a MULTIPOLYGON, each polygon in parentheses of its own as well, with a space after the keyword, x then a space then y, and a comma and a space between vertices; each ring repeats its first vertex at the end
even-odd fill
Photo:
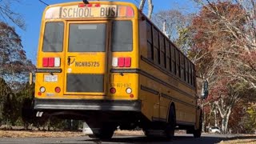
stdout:
POLYGON ((46 8, 35 81, 38 116, 86 120, 100 138, 138 122, 137 11, 126 2, 46 8))

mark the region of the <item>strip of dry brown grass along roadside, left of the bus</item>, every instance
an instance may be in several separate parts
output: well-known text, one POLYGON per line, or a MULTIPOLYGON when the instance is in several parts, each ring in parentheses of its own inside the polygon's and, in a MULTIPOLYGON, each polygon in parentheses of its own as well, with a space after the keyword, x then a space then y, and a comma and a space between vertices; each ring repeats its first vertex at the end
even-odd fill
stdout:
POLYGON ((56 137, 78 137, 82 132, 70 131, 24 131, 24 130, 0 130, 0 138, 56 138, 56 137))

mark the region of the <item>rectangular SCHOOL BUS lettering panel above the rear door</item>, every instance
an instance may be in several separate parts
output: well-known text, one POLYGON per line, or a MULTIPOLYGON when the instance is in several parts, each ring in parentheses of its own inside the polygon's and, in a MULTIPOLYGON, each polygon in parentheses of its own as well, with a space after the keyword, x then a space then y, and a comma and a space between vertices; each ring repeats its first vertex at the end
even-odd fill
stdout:
POLYGON ((117 17, 117 6, 102 5, 101 7, 62 7, 61 18, 107 18, 117 17))

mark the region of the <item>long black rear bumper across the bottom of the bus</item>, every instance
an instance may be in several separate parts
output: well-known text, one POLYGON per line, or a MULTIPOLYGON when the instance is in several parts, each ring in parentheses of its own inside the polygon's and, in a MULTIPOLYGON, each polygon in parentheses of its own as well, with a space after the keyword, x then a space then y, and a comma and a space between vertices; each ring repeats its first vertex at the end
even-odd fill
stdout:
POLYGON ((124 100, 85 100, 85 99, 34 99, 35 110, 142 110, 141 101, 124 100))

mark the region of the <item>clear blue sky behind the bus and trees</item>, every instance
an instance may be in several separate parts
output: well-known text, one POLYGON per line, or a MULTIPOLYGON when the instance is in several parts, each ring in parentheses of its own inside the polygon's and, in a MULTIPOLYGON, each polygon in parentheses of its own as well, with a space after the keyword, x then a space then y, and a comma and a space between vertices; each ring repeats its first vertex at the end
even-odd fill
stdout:
MULTIPOLYGON (((43 0, 47 4, 55 4, 61 2, 82 2, 82 0, 43 0)), ((123 2, 133 2, 138 6, 140 0, 117 0, 123 2)), ((147 0, 146 0, 147 1, 147 0)), ((152 0, 154 4, 154 13, 159 10, 170 10, 170 9, 182 9, 182 10, 193 10, 193 3, 191 0, 152 0)), ((147 7, 147 3, 145 5, 147 7)), ((22 45, 26 50, 26 56, 36 63, 36 55, 38 50, 38 36, 41 25, 42 12, 46 8, 46 5, 42 4, 38 0, 24 0, 21 4, 15 3, 13 10, 22 14, 26 22, 26 30, 21 30, 16 27, 18 34, 22 38, 22 45)), ((14 24, 11 24, 14 26, 14 24)))

